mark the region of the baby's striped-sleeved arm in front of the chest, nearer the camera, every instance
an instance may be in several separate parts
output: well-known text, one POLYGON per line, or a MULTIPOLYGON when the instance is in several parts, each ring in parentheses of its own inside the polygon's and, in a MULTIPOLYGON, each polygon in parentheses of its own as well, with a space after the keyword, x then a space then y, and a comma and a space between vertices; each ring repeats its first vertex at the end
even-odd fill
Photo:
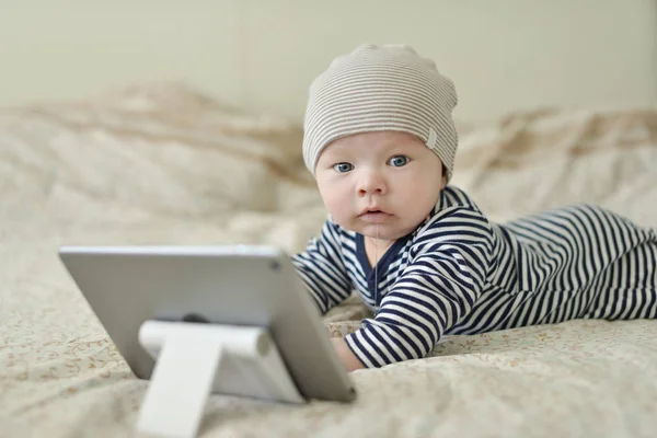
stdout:
POLYGON ((492 263, 493 231, 481 212, 460 207, 435 218, 411 251, 374 319, 345 338, 366 367, 425 357, 471 311, 492 263))

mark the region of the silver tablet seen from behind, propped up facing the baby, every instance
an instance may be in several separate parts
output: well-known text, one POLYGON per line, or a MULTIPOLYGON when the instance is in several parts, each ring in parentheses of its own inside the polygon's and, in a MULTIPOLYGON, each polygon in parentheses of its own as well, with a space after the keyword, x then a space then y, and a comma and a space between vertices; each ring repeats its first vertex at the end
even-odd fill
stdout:
POLYGON ((289 255, 272 246, 62 246, 59 257, 138 378, 149 320, 267 327, 302 396, 351 401, 353 381, 289 255))

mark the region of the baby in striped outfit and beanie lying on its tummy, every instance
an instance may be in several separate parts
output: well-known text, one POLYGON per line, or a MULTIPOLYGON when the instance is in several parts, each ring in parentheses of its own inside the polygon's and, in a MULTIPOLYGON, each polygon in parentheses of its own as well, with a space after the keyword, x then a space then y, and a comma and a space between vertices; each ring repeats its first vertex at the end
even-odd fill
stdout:
POLYGON ((496 224, 449 185, 452 82, 406 46, 358 47, 312 83, 303 157, 328 210, 292 256, 319 310, 376 315, 346 368, 425 357, 446 334, 657 318, 657 233, 589 205, 496 224))

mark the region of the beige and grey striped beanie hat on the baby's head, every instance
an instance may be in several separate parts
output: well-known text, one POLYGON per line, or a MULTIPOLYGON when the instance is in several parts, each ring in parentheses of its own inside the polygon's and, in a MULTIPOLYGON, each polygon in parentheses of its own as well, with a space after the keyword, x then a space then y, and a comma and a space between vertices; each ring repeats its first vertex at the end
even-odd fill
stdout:
POLYGON ((357 47, 331 62, 310 85, 303 120, 303 160, 314 175, 322 150, 353 134, 413 134, 442 161, 451 178, 458 137, 451 80, 404 45, 357 47))

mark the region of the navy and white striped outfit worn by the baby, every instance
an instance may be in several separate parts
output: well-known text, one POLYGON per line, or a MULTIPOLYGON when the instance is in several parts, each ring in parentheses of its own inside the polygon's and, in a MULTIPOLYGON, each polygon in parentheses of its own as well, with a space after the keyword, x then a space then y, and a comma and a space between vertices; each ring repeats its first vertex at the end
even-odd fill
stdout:
POLYGON ((331 218, 292 263, 322 313, 354 289, 374 311, 345 337, 366 367, 422 358, 447 334, 657 318, 656 231, 590 205, 496 224, 447 186, 377 269, 331 218))

